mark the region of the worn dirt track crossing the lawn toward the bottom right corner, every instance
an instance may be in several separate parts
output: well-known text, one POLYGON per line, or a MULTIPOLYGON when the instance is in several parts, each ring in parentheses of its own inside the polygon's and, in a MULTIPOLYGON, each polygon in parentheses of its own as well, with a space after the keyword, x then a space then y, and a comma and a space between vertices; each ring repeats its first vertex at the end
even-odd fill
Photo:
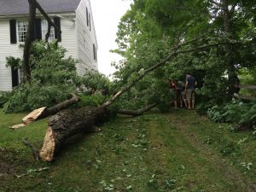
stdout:
MULTIPOLYGON (((218 172, 222 172, 222 176, 225 177, 227 181, 236 186, 237 191, 256 191, 255 183, 245 178, 234 166, 230 166, 230 162, 228 162, 228 160, 225 160, 221 155, 216 154, 216 151, 213 151, 212 148, 200 141, 195 133, 191 131, 191 126, 188 122, 189 119, 181 117, 176 113, 169 114, 167 117, 171 120, 172 125, 177 127, 177 130, 183 135, 183 137, 185 137, 193 147, 197 148, 201 155, 216 167, 218 172)), ((197 118, 204 120, 203 117, 197 116, 197 118)))

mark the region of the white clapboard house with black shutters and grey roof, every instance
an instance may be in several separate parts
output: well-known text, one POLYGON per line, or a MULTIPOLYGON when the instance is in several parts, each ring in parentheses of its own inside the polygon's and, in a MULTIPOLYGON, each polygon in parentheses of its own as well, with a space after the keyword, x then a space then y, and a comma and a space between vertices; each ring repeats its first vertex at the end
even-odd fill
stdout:
MULTIPOLYGON (((79 60, 79 75, 97 70, 97 42, 90 0, 38 0, 38 3, 61 28, 60 44, 66 56, 79 60)), ((20 83, 20 71, 6 67, 6 57, 22 57, 20 44, 26 40, 29 4, 27 0, 0 0, 0 90, 12 90, 20 83)), ((35 36, 45 38, 48 24, 37 14, 35 36)), ((50 39, 56 37, 54 29, 50 39)))

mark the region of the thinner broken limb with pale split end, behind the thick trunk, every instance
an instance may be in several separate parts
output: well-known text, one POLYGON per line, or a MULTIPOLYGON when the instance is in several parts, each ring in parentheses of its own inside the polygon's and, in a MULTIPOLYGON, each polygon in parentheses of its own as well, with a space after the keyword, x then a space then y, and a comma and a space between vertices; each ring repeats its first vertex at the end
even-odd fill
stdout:
POLYGON ((32 113, 29 113, 22 119, 22 124, 19 125, 13 125, 10 128, 11 129, 19 129, 22 126, 26 126, 31 124, 32 122, 38 120, 38 119, 44 119, 50 115, 53 115, 55 113, 60 112, 63 109, 68 108, 69 106, 79 102, 79 97, 76 96, 75 94, 71 93, 72 98, 66 100, 65 102, 61 102, 57 105, 55 105, 52 108, 38 108, 32 111, 32 113))

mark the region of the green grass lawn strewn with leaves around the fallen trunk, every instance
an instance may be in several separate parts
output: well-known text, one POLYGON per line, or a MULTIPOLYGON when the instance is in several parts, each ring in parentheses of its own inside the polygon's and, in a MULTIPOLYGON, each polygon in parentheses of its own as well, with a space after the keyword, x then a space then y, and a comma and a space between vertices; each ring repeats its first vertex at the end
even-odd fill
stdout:
POLYGON ((22 144, 41 148, 46 119, 9 129, 24 115, 0 111, 1 192, 256 191, 252 132, 230 132, 194 111, 119 116, 102 132, 70 139, 51 163, 22 144))

